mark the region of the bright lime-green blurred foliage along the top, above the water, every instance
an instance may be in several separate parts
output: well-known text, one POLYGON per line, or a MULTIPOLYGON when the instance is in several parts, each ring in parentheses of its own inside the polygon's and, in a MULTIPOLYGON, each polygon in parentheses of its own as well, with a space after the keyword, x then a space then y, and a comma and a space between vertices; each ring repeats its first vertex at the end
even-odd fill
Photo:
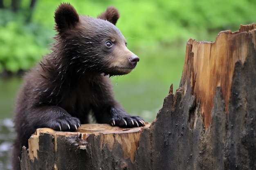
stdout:
MULTIPOLYGON (((63 1, 47 2, 48 6, 46 2, 38 2, 33 19, 51 27, 53 11, 63 1)), ((240 24, 255 22, 256 6, 256 1, 249 0, 73 0, 70 3, 79 13, 93 17, 110 5, 117 7, 121 14, 117 27, 136 47, 162 46, 190 37, 214 40, 209 33, 216 36, 220 31, 236 31, 240 24)))

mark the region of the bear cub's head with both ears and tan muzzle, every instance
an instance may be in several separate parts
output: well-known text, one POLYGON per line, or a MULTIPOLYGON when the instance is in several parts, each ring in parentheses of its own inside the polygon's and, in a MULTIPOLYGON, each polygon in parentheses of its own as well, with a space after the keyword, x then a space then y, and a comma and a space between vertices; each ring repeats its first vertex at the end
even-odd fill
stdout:
POLYGON ((70 4, 60 4, 54 16, 58 32, 54 46, 65 57, 62 60, 70 62, 77 73, 130 73, 139 57, 126 47, 126 39, 115 26, 118 18, 115 7, 92 18, 79 15, 70 4))

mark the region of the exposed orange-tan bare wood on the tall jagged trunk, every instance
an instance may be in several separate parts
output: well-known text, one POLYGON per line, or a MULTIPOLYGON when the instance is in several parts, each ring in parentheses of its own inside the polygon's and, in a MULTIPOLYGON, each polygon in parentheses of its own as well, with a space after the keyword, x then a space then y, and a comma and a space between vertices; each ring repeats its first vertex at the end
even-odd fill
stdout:
POLYGON ((211 123, 213 98, 217 86, 221 87, 225 101, 225 112, 228 113, 232 76, 236 62, 245 62, 248 53, 256 49, 256 24, 241 25, 239 31, 222 31, 215 42, 198 42, 190 39, 186 46, 185 64, 182 79, 190 76, 193 95, 201 105, 205 127, 211 123), (244 33, 247 32, 247 33, 244 33), (249 45, 254 44, 254 49, 249 45), (192 73, 187 65, 193 63, 192 73))

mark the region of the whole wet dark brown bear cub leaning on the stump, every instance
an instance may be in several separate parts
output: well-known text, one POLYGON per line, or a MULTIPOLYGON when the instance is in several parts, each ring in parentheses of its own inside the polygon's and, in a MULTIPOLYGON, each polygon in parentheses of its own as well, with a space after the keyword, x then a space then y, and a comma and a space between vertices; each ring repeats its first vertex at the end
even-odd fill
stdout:
POLYGON ((18 94, 14 117, 13 168, 20 169, 22 146, 36 128, 74 131, 96 121, 120 127, 144 126, 139 116, 130 116, 114 99, 109 76, 125 75, 139 57, 126 47, 126 39, 115 26, 119 12, 108 7, 98 18, 78 15, 70 4, 55 11, 52 53, 27 75, 18 94))

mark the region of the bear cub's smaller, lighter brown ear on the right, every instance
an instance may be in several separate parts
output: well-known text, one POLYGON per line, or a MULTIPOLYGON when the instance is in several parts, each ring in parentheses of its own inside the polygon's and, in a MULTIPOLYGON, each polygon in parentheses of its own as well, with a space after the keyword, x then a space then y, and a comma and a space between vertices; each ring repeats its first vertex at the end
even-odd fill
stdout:
POLYGON ((119 16, 119 12, 115 7, 108 7, 106 11, 99 14, 97 18, 107 20, 115 25, 117 23, 119 16))

